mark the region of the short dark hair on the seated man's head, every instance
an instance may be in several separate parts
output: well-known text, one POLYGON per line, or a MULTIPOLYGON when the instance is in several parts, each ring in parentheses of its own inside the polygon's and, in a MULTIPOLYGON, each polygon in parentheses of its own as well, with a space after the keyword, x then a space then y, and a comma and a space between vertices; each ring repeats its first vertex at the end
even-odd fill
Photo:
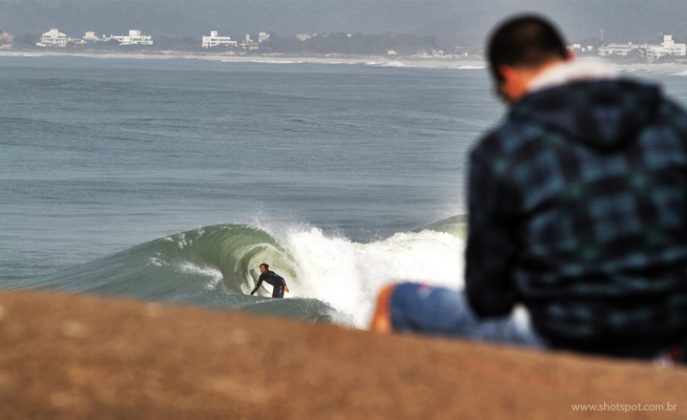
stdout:
POLYGON ((543 17, 522 15, 501 23, 487 47, 489 67, 497 82, 501 66, 537 67, 552 58, 565 58, 568 50, 560 32, 543 17))

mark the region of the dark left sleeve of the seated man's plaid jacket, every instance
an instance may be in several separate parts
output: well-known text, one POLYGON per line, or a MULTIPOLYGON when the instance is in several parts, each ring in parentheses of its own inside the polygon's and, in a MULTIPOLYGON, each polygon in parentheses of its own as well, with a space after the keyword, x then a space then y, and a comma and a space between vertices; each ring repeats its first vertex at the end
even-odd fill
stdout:
POLYGON ((501 164, 491 159, 483 150, 474 151, 468 177, 465 292, 480 318, 506 316, 516 303, 511 283, 516 245, 509 229, 515 191, 507 177, 498 173, 505 170, 494 169, 501 164))

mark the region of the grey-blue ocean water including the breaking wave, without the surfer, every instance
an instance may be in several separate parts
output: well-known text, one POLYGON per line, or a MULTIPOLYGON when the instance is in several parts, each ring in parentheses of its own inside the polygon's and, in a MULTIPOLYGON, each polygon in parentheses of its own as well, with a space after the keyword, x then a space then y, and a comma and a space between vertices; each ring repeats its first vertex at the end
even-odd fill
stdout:
POLYGON ((461 286, 490 89, 479 68, 1 57, 0 282, 363 326, 391 279, 461 286), (245 296, 263 261, 287 299, 245 296))

